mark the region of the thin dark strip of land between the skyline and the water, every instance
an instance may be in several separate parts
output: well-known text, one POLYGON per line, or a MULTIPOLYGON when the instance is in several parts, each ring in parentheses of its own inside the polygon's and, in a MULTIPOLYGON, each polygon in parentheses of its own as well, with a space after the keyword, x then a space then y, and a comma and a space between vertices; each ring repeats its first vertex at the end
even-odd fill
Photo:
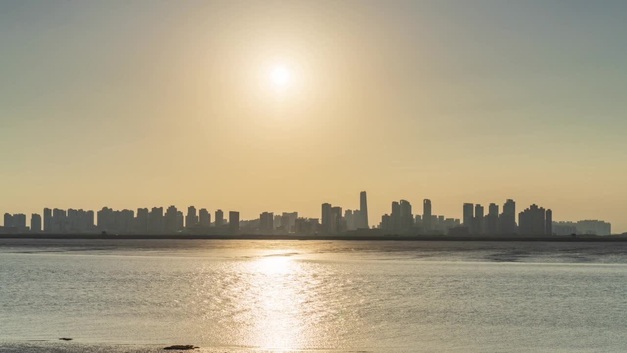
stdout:
POLYGON ((369 236, 369 235, 198 235, 198 234, 0 234, 0 239, 238 239, 238 240, 341 240, 341 241, 559 241, 616 242, 627 241, 617 236, 369 236))

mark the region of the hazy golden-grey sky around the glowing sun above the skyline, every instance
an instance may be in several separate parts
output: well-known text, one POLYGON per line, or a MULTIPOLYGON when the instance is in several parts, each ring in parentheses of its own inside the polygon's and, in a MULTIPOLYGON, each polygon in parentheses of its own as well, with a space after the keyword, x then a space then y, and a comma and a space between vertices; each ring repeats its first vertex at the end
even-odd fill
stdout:
POLYGON ((1 1, 0 212, 535 203, 627 231, 625 1, 1 1), (284 89, 273 67, 290 72, 284 89))

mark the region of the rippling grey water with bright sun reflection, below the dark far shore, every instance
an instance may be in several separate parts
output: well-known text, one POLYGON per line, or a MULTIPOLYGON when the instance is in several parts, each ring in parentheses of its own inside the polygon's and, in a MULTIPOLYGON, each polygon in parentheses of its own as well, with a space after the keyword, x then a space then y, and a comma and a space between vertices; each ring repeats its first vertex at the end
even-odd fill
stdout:
POLYGON ((0 351, 625 352, 626 285, 622 243, 3 239, 0 351))

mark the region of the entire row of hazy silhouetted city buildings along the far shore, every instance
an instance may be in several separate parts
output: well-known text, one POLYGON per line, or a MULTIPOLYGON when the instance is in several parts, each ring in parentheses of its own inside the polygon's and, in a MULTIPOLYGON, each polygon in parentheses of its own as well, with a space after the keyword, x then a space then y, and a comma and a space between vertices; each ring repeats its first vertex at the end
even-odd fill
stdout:
POLYGON ((516 203, 507 200, 499 212, 497 204, 488 205, 488 212, 480 204, 463 204, 462 219, 434 215, 431 200, 423 200, 422 214, 413 214, 408 200, 392 202, 390 214, 381 216, 381 222, 370 228, 366 192, 359 195, 359 209, 345 210, 332 204, 322 204, 322 217, 298 217, 298 212, 263 212, 259 218, 240 220, 240 213, 230 211, 228 220, 222 210, 214 212, 214 220, 207 209, 187 207, 186 214, 175 206, 152 209, 113 210, 103 207, 92 210, 44 209, 43 219, 31 215, 30 227, 26 215, 4 214, 4 227, 0 233, 46 232, 51 234, 359 234, 359 235, 453 235, 453 236, 565 236, 590 234, 608 236, 611 225, 601 220, 579 222, 553 222, 551 209, 530 205, 518 214, 516 203), (96 216, 96 217, 95 217, 96 216))

